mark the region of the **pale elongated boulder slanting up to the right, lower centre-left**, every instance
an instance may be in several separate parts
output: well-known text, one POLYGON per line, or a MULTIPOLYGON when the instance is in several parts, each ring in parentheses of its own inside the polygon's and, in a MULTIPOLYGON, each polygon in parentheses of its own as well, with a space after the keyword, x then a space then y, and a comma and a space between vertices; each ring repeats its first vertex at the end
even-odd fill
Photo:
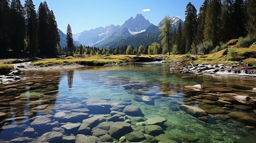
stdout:
POLYGON ((94 127, 96 127, 97 125, 99 125, 99 123, 101 122, 105 122, 106 121, 106 117, 102 116, 102 115, 97 115, 88 119, 84 119, 83 123, 81 123, 81 126, 79 127, 78 131, 80 133, 86 134, 88 132, 90 132, 90 130, 94 127))

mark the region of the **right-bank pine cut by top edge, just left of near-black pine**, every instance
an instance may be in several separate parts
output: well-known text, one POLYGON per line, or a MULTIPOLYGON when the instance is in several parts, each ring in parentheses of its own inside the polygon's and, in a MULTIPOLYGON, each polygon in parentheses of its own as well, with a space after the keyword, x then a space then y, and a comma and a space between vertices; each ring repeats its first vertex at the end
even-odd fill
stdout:
POLYGON ((221 12, 221 32, 222 41, 227 42, 231 39, 233 22, 231 20, 231 14, 233 13, 233 0, 222 1, 222 12, 221 12))

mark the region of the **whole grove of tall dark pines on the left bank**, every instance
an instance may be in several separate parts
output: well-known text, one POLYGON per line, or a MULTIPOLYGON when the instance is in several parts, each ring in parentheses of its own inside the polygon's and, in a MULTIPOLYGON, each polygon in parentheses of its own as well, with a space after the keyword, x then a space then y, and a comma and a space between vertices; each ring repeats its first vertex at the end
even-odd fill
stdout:
POLYGON ((46 2, 0 0, 0 56, 58 55, 57 22, 46 2))

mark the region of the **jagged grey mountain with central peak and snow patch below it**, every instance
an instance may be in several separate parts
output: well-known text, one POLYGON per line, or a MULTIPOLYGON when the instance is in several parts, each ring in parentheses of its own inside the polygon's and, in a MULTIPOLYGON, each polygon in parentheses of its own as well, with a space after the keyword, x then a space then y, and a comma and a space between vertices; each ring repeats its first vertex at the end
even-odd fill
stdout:
POLYGON ((77 33, 73 35, 73 38, 83 45, 101 46, 113 40, 119 40, 130 35, 144 32, 150 25, 151 23, 146 20, 142 14, 137 14, 135 18, 129 18, 121 26, 109 25, 105 28, 98 27, 77 33), (127 33, 127 31, 129 33, 127 33))

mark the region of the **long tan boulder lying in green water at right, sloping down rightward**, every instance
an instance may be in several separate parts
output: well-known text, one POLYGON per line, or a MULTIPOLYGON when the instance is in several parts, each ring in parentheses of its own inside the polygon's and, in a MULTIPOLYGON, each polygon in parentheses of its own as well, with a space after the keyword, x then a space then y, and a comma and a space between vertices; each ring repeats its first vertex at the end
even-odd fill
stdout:
POLYGON ((202 110, 201 108, 198 108, 195 106, 180 105, 180 109, 188 114, 191 114, 194 117, 207 116, 207 113, 205 112, 205 110, 202 110))

